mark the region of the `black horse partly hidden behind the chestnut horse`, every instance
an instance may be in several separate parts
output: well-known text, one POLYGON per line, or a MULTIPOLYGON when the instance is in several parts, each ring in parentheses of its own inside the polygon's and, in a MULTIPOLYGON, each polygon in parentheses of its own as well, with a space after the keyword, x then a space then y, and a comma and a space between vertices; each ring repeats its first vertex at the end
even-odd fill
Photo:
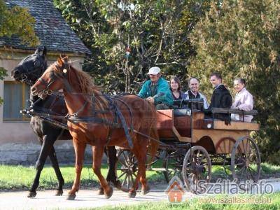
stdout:
MULTIPOLYGON (((43 47, 43 49, 37 48, 34 54, 22 59, 20 64, 18 64, 18 66, 13 69, 11 76, 15 80, 22 81, 22 83, 27 85, 34 85, 36 80, 38 80, 45 69, 47 69, 47 60, 45 58, 46 54, 47 50, 45 47, 43 47)), ((37 96, 30 96, 29 101, 31 102, 31 106, 34 111, 48 111, 48 113, 59 116, 65 116, 67 113, 66 104, 62 95, 50 95, 44 100, 38 99, 37 96)), ((66 121, 63 120, 60 120, 59 122, 66 124, 66 121)), ((37 135, 42 147, 40 155, 38 156, 38 160, 36 161, 36 176, 34 183, 29 190, 28 197, 36 196, 36 189, 38 188, 40 174, 48 156, 52 162, 52 167, 55 169, 55 174, 58 179, 56 195, 62 195, 64 179, 59 169, 57 155, 55 153, 53 144, 55 144, 55 141, 57 140, 72 139, 69 130, 63 129, 62 127, 57 127, 56 125, 53 125, 53 123, 49 123, 48 121, 33 116, 31 117, 30 125, 34 130, 34 133, 37 135)), ((107 174, 106 180, 113 183, 116 188, 120 188, 120 181, 118 181, 116 176, 116 148, 113 146, 107 147, 106 155, 108 156, 109 160, 109 172, 107 174)), ((99 194, 103 193, 102 190, 102 188, 99 188, 99 194)))

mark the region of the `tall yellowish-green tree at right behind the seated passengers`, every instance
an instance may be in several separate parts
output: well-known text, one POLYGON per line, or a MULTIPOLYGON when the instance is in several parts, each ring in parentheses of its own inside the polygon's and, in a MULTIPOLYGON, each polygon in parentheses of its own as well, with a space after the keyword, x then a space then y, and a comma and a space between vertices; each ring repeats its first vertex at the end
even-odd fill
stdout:
POLYGON ((280 3, 273 0, 227 0, 211 3, 190 39, 197 55, 188 73, 202 78, 204 92, 212 92, 209 75, 223 73, 232 87, 235 77, 247 80, 259 111, 255 134, 262 160, 280 163, 280 3))

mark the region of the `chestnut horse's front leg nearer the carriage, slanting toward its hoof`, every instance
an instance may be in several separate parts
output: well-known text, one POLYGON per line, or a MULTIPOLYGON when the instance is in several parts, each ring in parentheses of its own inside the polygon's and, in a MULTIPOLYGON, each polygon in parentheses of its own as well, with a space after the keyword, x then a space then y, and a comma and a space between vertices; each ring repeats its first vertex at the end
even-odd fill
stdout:
POLYGON ((104 177, 102 176, 100 170, 103 152, 104 152, 104 146, 92 146, 92 154, 93 154, 92 169, 94 174, 96 174, 99 179, 100 185, 104 190, 105 197, 110 198, 113 195, 113 188, 109 186, 106 179, 104 179, 104 177))

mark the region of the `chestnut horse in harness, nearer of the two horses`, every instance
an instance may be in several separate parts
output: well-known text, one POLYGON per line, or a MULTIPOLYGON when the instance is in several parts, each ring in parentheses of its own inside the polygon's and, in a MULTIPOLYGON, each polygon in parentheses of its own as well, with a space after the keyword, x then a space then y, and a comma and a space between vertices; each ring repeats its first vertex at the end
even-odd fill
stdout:
POLYGON ((135 197, 139 181, 142 184, 142 193, 148 193, 150 188, 146 181, 145 167, 147 146, 151 144, 152 157, 158 150, 158 141, 149 142, 148 138, 158 139, 153 104, 133 94, 125 94, 116 99, 105 97, 94 86, 87 73, 78 71, 69 64, 68 57, 59 57, 57 62, 50 65, 31 87, 31 94, 43 99, 47 94, 61 89, 69 111, 66 116, 67 125, 76 153, 76 177, 68 199, 73 200, 76 197, 80 186, 86 144, 93 146, 92 168, 106 198, 111 197, 113 189, 100 171, 104 146, 129 148, 134 153, 138 160, 138 172, 128 195, 135 197))

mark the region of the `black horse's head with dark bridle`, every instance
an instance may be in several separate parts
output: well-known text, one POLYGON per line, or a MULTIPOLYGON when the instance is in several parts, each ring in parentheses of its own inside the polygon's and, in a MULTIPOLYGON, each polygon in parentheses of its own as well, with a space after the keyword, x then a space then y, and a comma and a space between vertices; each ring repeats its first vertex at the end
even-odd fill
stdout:
POLYGON ((11 76, 15 80, 22 81, 27 85, 34 85, 36 80, 47 69, 46 54, 47 49, 45 47, 43 47, 43 50, 37 48, 34 54, 22 59, 20 64, 13 69, 11 76))

